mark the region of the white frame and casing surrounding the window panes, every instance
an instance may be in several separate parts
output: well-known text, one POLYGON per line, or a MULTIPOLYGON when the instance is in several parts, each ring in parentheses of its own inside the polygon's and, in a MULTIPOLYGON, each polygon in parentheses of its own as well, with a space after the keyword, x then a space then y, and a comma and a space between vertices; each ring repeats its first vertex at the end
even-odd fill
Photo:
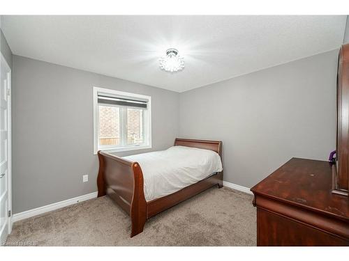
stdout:
MULTIPOLYGON (((120 111, 121 113, 121 111, 120 111)), ((125 123, 120 126, 120 131, 123 132, 126 129, 125 123)), ((151 97, 147 95, 140 95, 136 93, 126 93, 120 90, 112 90, 106 88, 100 88, 94 86, 94 155, 97 154, 98 150, 103 150, 106 152, 121 152, 121 151, 130 151, 130 150, 144 150, 151 148, 151 97), (116 146, 116 145, 108 145, 100 148, 98 145, 98 129, 99 129, 99 120, 98 120, 98 92, 101 93, 110 93, 112 95, 120 95, 126 97, 134 97, 140 99, 146 99, 147 102, 147 110, 144 110, 144 141, 149 141, 145 145, 124 145, 124 146, 116 146)))

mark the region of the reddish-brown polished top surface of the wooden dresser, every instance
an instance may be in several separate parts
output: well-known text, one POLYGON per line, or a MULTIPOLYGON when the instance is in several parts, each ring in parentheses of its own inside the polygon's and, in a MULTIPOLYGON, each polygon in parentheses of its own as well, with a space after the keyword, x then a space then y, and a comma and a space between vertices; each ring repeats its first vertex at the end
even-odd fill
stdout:
POLYGON ((332 193, 332 166, 327 161, 292 158, 251 191, 349 221, 349 198, 332 193))

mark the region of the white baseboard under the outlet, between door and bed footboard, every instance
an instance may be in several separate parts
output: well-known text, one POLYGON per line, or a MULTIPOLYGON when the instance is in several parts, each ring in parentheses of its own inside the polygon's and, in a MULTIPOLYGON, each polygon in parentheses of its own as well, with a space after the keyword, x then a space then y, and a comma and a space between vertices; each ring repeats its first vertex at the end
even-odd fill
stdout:
POLYGON ((39 214, 43 214, 45 212, 50 212, 52 210, 59 209, 61 207, 66 207, 69 205, 73 205, 75 203, 89 200, 91 198, 97 198, 97 192, 92 192, 92 193, 89 193, 86 195, 78 196, 76 198, 70 198, 68 200, 59 201, 57 203, 52 203, 50 205, 45 205, 43 207, 37 207, 34 209, 29 209, 29 210, 24 211, 24 212, 13 214, 12 222, 14 223, 15 221, 20 221, 22 219, 28 219, 31 216, 36 216, 39 214))

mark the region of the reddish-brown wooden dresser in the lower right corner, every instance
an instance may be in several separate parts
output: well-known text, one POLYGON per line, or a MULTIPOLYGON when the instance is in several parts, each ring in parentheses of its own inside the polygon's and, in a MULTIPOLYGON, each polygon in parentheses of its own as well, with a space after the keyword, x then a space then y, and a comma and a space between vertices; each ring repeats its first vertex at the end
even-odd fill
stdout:
POLYGON ((328 161, 290 159, 251 189, 258 246, 349 246, 349 198, 328 161))

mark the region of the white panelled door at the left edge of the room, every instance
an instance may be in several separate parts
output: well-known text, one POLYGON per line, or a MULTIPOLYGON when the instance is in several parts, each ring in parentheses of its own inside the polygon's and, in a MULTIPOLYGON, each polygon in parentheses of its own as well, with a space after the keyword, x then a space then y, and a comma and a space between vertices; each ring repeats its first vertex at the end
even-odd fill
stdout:
POLYGON ((10 232, 10 68, 1 56, 0 82, 0 244, 10 232))

